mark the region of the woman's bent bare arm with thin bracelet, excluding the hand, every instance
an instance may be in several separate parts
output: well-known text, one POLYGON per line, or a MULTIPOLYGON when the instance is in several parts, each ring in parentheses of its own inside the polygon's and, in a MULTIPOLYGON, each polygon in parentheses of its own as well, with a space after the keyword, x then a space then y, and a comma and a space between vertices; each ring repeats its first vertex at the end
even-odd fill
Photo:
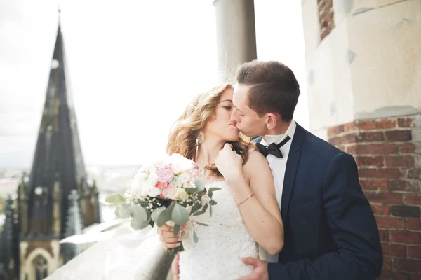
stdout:
POLYGON ((225 178, 250 234, 271 255, 283 248, 283 223, 274 179, 265 157, 251 151, 243 174, 225 178), (242 176, 241 176, 242 175, 242 176), (252 197, 247 199, 251 194, 252 197))

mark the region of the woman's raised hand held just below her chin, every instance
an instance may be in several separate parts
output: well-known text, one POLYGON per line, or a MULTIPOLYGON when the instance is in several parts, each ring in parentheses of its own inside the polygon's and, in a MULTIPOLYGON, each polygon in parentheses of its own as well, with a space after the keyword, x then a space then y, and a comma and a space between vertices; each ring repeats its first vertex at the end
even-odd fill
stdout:
POLYGON ((225 144, 215 160, 215 165, 225 180, 228 180, 242 174, 243 158, 232 150, 232 145, 225 144))

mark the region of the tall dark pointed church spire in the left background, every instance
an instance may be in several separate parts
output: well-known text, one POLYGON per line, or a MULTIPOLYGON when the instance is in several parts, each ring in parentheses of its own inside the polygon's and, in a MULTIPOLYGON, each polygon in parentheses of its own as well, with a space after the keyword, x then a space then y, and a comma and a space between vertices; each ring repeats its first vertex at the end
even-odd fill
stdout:
MULTIPOLYGON (((63 197, 60 221, 63 223, 69 208, 67 195, 77 188, 82 179, 86 181, 72 94, 68 85, 69 77, 59 19, 46 99, 28 183, 28 230, 32 237, 56 235, 52 225, 52 194, 55 183, 60 182, 63 197), (56 174, 59 174, 58 178, 56 174), (39 221, 43 221, 41 227, 39 221)), ((86 183, 83 185, 86 186, 86 183)), ((62 224, 59 237, 64 233, 63 228, 62 224)))

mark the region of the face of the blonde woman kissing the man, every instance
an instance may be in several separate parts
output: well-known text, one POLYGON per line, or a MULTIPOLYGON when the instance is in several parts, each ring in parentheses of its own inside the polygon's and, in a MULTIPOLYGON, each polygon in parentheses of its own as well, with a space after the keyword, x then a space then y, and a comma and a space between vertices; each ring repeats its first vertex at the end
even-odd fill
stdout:
POLYGON ((234 106, 232 105, 232 95, 234 90, 227 88, 222 92, 220 102, 216 106, 215 115, 206 124, 203 130, 205 138, 209 135, 218 137, 224 141, 237 141, 239 139, 239 129, 230 117, 234 106))

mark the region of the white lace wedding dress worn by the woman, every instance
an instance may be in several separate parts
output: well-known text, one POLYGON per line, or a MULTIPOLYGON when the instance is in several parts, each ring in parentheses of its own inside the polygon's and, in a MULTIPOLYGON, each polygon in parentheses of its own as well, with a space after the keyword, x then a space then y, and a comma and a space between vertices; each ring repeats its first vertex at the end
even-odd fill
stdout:
POLYGON ((234 197, 225 181, 206 185, 221 188, 213 192, 218 202, 205 214, 192 216, 182 234, 185 251, 180 253, 180 280, 237 279, 250 274, 253 267, 244 265, 242 257, 258 258, 258 245, 248 232, 234 197), (208 226, 197 225, 195 221, 208 226), (193 239, 193 227, 199 237, 193 239))

